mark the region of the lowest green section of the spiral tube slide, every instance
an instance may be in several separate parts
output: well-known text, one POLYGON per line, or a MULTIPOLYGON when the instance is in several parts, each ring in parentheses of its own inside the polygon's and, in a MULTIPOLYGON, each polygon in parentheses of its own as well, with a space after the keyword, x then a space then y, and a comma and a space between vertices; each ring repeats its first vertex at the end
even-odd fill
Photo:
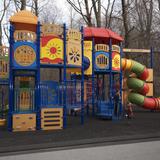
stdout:
POLYGON ((128 95, 128 100, 133 104, 136 104, 138 106, 142 106, 144 103, 144 96, 142 96, 138 93, 130 93, 128 95))

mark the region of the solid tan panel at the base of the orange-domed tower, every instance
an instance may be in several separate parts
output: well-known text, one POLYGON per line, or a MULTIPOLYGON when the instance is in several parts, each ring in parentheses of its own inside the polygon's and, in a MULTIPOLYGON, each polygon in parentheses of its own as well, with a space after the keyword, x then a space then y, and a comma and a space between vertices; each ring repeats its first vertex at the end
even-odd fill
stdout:
POLYGON ((14 114, 13 132, 36 130, 36 114, 14 114))

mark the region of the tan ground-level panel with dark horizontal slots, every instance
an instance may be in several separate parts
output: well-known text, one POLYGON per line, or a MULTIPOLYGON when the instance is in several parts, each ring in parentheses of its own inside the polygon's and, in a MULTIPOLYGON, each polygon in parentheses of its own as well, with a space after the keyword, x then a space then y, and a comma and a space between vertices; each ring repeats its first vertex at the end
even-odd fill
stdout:
POLYGON ((41 129, 57 130, 63 128, 63 108, 42 108, 41 129))

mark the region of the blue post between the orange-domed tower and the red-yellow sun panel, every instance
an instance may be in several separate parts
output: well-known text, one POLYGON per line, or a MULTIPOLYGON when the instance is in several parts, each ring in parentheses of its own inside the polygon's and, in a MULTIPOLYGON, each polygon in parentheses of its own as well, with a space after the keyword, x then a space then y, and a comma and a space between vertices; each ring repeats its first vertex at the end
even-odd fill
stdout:
POLYGON ((40 102, 41 102, 41 93, 40 93, 40 22, 37 24, 37 53, 36 53, 36 60, 37 60, 37 74, 36 74, 36 94, 35 94, 35 101, 36 101, 36 117, 37 117, 37 129, 41 129, 41 109, 40 109, 40 102))

